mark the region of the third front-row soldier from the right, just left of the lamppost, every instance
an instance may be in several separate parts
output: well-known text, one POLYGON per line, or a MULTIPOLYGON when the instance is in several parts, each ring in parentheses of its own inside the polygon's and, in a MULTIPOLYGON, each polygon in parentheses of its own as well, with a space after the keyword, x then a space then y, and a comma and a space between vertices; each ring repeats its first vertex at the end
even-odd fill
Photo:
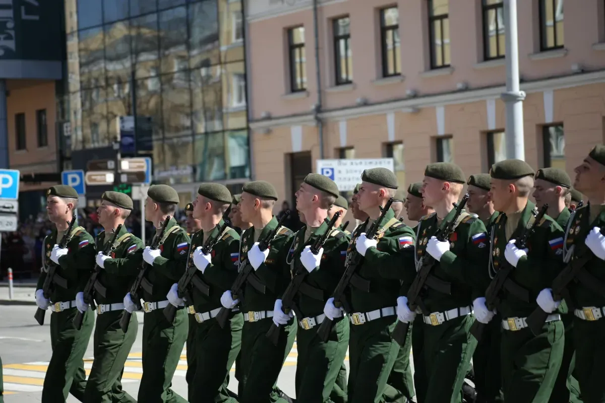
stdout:
MULTIPOLYGON (((422 302, 431 314, 423 316, 422 322, 427 372, 424 402, 460 402, 462 384, 476 347, 476 340, 469 334, 473 324, 470 304, 474 289, 480 287, 475 278, 487 260, 485 226, 470 214, 462 213, 453 222, 454 231, 448 239, 437 239, 434 236, 437 229, 454 219, 453 204, 460 198, 466 177, 460 167, 450 163, 429 164, 424 175, 420 193, 424 204, 433 207, 435 214, 423 217, 418 223, 416 260, 420 262, 430 254, 436 260, 431 276, 449 283, 451 289, 448 294, 425 284, 422 302)), ((411 271, 411 278, 404 279, 404 295, 416 276, 416 270, 411 271)), ((397 303, 399 320, 414 320, 416 312, 408 308, 407 297, 400 297, 397 303)))

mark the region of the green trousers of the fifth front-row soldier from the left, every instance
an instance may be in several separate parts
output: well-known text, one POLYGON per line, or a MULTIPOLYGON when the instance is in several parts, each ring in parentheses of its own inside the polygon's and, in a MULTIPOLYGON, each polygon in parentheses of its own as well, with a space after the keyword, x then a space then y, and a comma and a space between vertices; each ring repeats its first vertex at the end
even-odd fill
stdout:
POLYGON ((280 326, 277 346, 266 334, 272 318, 244 322, 241 333, 241 379, 238 384, 240 403, 285 403, 278 395, 277 378, 296 338, 298 324, 293 319, 280 326))

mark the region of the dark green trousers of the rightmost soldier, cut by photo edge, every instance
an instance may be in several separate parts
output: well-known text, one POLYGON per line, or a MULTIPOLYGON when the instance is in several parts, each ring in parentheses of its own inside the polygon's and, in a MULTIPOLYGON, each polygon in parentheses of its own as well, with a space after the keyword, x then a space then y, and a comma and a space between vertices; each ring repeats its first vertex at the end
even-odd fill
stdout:
POLYGON ((575 373, 584 403, 605 403, 605 318, 574 317, 575 373))

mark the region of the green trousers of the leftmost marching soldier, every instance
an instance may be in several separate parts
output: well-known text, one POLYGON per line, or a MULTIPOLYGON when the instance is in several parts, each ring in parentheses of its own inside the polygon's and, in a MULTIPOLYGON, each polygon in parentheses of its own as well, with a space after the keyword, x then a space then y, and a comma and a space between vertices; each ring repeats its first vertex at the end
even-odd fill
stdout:
POLYGON ((94 312, 84 314, 80 330, 73 325, 76 312, 76 308, 69 308, 50 315, 53 355, 44 378, 43 403, 64 402, 70 393, 80 402, 84 401, 86 373, 83 358, 93 332, 94 312))

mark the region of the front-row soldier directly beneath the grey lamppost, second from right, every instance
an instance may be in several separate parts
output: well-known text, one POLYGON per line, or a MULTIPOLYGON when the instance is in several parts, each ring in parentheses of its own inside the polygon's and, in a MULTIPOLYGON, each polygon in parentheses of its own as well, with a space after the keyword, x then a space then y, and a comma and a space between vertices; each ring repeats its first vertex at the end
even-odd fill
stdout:
MULTIPOLYGON (((546 402, 561 365, 563 323, 561 315, 550 315, 542 333, 535 336, 526 318, 537 308, 534 295, 550 286, 561 269, 562 231, 549 216, 535 223, 535 205, 528 200, 534 171, 525 161, 501 161, 492 166, 490 175, 490 198, 502 214, 492 225, 488 273, 494 276, 508 262, 514 267, 508 279, 520 287, 503 289, 497 306, 504 329, 500 342, 504 400, 546 402), (515 239, 534 224, 535 231, 528 238, 531 250, 518 249, 515 239)), ((476 298, 473 306, 477 320, 493 320, 494 312, 488 311, 484 298, 476 298)))

